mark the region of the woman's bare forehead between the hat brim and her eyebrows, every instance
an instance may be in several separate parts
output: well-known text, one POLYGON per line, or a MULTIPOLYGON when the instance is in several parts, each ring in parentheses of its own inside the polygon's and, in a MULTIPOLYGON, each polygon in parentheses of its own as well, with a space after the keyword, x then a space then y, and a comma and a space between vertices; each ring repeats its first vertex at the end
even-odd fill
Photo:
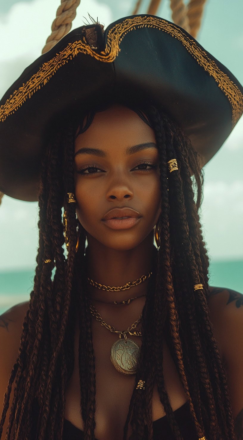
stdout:
POLYGON ((95 114, 89 128, 75 140, 75 151, 80 147, 128 147, 144 142, 155 142, 154 130, 128 107, 114 104, 95 114))

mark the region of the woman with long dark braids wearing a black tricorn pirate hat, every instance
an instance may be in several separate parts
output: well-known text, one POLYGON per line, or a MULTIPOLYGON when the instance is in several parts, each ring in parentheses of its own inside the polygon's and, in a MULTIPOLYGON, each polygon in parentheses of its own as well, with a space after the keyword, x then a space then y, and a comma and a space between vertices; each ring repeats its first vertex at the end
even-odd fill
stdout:
POLYGON ((39 195, 14 439, 242 438, 215 338, 228 292, 214 301, 198 216, 202 166, 243 110, 225 71, 178 26, 133 16, 75 29, 2 99, 0 189, 39 195))

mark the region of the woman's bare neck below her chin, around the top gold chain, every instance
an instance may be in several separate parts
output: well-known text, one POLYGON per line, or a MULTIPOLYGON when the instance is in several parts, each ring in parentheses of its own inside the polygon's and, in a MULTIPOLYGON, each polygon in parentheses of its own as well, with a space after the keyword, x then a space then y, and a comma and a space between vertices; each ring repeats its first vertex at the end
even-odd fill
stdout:
MULTIPOLYGON (((153 231, 133 249, 111 249, 87 235, 86 249, 87 277, 105 286, 124 286, 129 281, 135 281, 148 272, 154 272, 153 231)), ((127 290, 109 292, 91 286, 87 282, 87 293, 92 300, 122 301, 147 293, 149 278, 137 286, 127 290)))

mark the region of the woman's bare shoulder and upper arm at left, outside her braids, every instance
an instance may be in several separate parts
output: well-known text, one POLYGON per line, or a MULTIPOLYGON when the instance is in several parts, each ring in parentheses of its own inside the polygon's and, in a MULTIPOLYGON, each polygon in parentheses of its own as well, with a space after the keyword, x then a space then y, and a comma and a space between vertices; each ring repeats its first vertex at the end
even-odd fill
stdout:
MULTIPOLYGON (((7 391, 8 381, 12 368, 18 357, 20 338, 23 329, 25 315, 29 308, 29 301, 14 305, 2 315, 0 315, 0 417, 3 411, 4 395, 7 391)), ((7 410, 2 437, 6 437, 8 419, 13 401, 13 390, 15 380, 12 385, 9 407, 7 410)))

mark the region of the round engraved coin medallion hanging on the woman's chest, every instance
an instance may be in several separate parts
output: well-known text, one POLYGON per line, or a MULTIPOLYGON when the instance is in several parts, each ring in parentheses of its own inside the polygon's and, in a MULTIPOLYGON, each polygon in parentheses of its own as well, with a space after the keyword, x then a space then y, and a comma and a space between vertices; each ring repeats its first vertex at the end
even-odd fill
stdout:
POLYGON ((124 374, 136 374, 139 362, 140 347, 132 339, 118 339, 111 347, 111 362, 124 374))

